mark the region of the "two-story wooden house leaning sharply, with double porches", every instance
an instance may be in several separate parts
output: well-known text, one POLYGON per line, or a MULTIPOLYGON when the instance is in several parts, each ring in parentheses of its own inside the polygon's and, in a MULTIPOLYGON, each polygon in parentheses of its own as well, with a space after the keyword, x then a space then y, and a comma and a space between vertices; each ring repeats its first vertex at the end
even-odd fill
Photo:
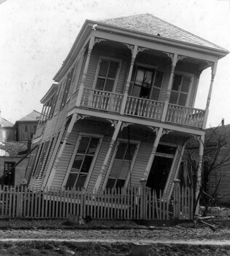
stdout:
MULTIPOLYGON (((142 180, 172 193, 186 140, 204 138, 217 62, 228 53, 150 14, 86 20, 42 99, 24 182, 113 189, 142 180), (195 109, 209 67, 206 108, 195 109)), ((202 151, 200 142, 199 164, 202 151)))

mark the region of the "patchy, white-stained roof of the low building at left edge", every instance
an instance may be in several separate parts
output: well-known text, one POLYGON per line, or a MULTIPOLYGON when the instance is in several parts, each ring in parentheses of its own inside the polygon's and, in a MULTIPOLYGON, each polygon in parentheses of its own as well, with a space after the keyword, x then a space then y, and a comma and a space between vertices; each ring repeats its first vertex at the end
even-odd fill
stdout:
POLYGON ((26 154, 26 142, 0 141, 0 156, 23 157, 26 154))

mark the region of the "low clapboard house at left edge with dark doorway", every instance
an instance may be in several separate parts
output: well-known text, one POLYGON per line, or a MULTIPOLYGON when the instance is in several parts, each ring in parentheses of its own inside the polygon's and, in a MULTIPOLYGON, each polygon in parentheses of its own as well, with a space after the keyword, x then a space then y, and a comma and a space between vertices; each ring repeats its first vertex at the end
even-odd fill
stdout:
MULTIPOLYGON (((30 150, 31 142, 0 141, 0 177, 11 169, 30 150)), ((29 156, 20 162, 5 178, 5 186, 17 186, 23 182, 29 156)))

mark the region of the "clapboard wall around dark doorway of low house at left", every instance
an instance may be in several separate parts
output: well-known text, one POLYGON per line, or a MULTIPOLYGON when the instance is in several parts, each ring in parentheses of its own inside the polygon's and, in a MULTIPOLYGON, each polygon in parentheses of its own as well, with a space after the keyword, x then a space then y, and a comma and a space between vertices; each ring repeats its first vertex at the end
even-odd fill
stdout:
MULTIPOLYGON (((0 177, 4 174, 4 163, 5 162, 15 162, 17 163, 21 157, 7 157, 7 156, 1 156, 0 157, 0 177)), ((20 183, 23 182, 25 173, 26 173, 26 167, 29 161, 29 157, 26 157, 24 160, 22 160, 21 163, 19 163, 15 167, 15 179, 14 179, 14 185, 20 185, 20 183)))

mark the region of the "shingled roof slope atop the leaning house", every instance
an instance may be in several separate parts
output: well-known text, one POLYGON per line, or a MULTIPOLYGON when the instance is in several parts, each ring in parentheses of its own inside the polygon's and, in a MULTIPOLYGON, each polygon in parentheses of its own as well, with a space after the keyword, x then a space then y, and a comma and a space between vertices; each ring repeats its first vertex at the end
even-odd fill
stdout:
POLYGON ((192 43, 200 46, 206 46, 222 51, 227 51, 226 49, 219 47, 207 40, 195 36, 181 28, 178 28, 164 20, 161 20, 149 13, 136 14, 125 17, 117 17, 111 19, 97 20, 97 22, 102 22, 112 26, 132 29, 134 31, 150 34, 157 36, 159 34, 162 37, 192 43))

